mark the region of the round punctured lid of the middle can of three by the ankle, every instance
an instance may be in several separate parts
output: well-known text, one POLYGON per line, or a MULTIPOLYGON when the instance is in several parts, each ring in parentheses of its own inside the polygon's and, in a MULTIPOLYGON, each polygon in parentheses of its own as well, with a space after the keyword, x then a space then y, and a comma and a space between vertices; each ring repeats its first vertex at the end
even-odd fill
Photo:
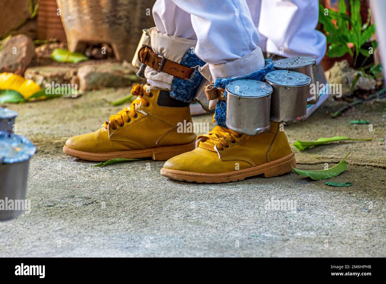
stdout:
POLYGON ((302 87, 311 83, 311 78, 303 73, 287 70, 275 70, 265 77, 267 82, 287 87, 302 87))

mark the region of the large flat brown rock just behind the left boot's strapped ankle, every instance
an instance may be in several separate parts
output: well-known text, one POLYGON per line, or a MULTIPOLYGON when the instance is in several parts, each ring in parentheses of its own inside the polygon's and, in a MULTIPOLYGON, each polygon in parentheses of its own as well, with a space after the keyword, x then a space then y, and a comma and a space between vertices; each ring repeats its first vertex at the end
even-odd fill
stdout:
POLYGON ((127 87, 139 80, 130 68, 119 62, 81 66, 78 78, 80 90, 127 87))

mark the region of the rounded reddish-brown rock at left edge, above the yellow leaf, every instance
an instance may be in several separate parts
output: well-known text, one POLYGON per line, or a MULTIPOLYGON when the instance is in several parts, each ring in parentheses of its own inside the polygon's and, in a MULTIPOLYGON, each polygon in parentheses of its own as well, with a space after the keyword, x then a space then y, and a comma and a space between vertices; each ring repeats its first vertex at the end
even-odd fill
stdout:
POLYGON ((12 36, 2 44, 0 51, 0 73, 10 72, 23 75, 35 57, 32 39, 24 34, 12 36))

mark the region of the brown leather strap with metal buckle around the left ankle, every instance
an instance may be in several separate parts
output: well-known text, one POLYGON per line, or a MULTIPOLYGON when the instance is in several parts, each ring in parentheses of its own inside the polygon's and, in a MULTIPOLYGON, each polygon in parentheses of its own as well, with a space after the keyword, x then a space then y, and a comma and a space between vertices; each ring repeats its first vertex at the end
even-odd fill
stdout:
POLYGON ((153 68, 158 72, 165 72, 174 77, 189 79, 194 69, 168 60, 161 53, 154 53, 150 46, 143 45, 138 51, 141 63, 153 68))

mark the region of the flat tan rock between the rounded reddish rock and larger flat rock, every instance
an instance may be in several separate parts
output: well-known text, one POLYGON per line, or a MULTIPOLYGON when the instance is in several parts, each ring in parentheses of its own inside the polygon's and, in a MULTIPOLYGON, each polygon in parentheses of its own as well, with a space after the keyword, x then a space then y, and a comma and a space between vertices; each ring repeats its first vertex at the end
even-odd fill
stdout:
POLYGON ((46 84, 52 82, 55 84, 76 83, 78 81, 77 71, 78 68, 67 66, 36 66, 25 70, 24 77, 44 88, 46 84))

